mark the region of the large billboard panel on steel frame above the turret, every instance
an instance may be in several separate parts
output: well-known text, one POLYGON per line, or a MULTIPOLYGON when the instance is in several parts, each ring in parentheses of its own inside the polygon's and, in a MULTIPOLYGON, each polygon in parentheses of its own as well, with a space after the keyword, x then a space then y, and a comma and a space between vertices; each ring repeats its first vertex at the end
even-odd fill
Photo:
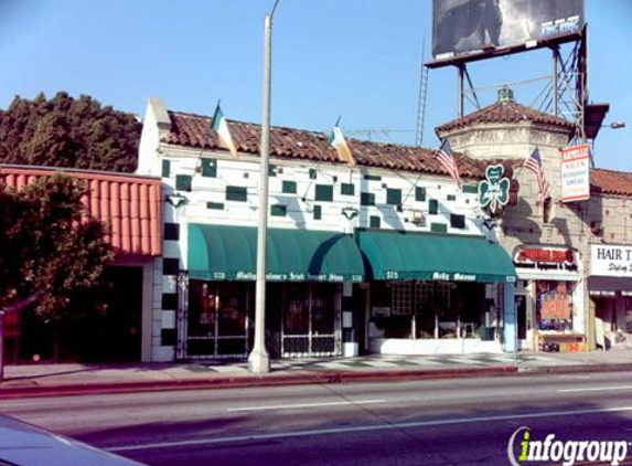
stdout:
POLYGON ((583 23, 583 0, 433 0, 432 56, 574 35, 583 23))

